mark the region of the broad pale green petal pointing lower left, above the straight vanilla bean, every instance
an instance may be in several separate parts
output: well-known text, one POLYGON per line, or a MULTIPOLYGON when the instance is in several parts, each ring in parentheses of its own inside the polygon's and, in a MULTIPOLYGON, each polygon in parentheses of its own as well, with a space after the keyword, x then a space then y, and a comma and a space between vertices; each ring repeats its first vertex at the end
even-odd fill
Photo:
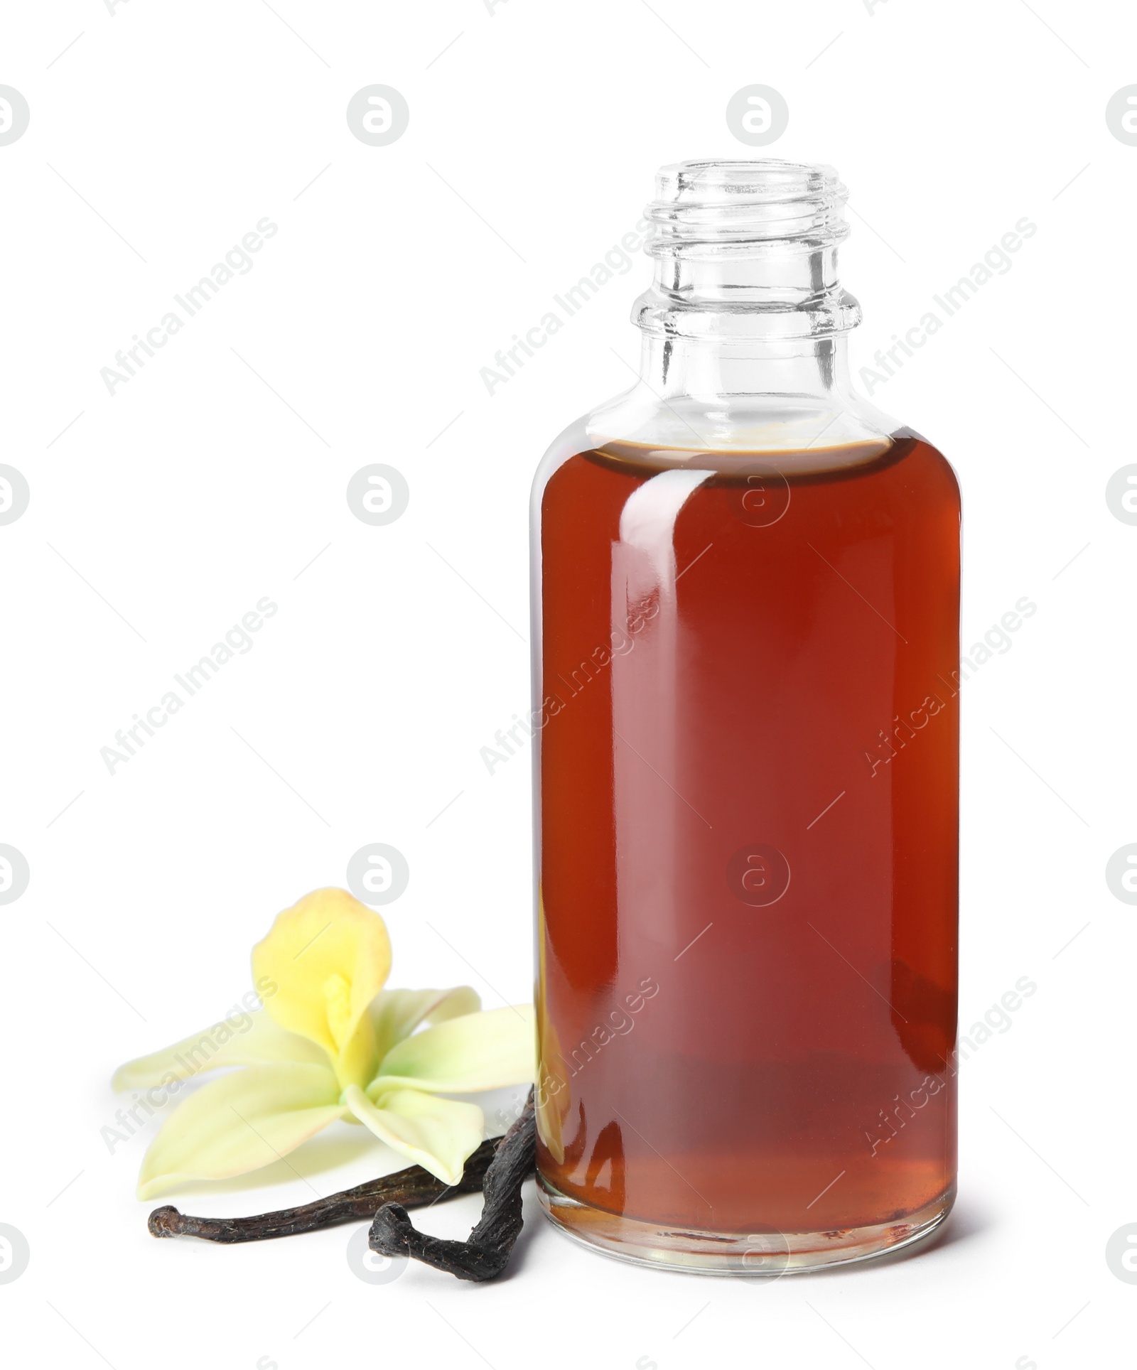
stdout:
POLYGON ((226 1180, 271 1164, 344 1117, 330 1066, 252 1066, 211 1080, 151 1143, 138 1197, 186 1180, 226 1180))

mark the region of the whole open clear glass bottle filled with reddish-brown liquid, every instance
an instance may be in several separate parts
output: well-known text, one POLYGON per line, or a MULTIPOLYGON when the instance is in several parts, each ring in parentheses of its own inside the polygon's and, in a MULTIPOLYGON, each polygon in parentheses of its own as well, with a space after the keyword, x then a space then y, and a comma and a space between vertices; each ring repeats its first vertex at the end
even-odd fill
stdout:
POLYGON ((538 1181, 777 1274, 955 1195, 959 492, 852 390, 832 169, 656 184, 640 379, 533 495, 538 1181))

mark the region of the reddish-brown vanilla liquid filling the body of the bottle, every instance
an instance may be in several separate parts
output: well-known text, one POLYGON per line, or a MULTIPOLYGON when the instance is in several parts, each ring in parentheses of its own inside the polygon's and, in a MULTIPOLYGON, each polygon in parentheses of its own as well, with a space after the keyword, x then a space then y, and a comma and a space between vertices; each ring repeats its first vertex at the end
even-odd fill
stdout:
POLYGON ((951 467, 608 444, 541 529, 542 1177, 704 1232, 903 1221, 955 1177, 951 467))

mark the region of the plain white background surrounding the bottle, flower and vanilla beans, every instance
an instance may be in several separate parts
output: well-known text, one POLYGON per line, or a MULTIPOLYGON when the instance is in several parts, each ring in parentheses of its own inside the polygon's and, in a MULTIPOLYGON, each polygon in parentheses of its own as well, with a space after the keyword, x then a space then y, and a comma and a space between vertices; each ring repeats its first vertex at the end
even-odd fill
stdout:
MULTIPOLYGON (((0 527, 0 841, 32 873, 0 908, 0 1221, 32 1252, 0 1285, 12 1363, 1126 1359, 1137 1286, 1104 1248, 1137 1222, 1137 910, 1104 867, 1137 841, 1137 527, 1104 489, 1137 460, 1137 148, 1104 110, 1137 82, 1137 18, 1032 5, 7 8, 0 82, 32 111, 0 147, 0 460, 32 492, 0 527), (345 121, 377 82, 411 110, 379 148, 345 121), (753 82, 790 110, 764 152, 725 122, 753 82), (1019 218, 1038 226, 873 396, 959 473, 964 645, 1038 606, 966 688, 962 1028, 1022 975, 1038 991, 964 1067, 951 1226, 773 1285, 626 1267, 536 1212, 485 1288, 422 1267, 367 1285, 352 1229, 155 1243, 133 1196, 148 1133, 114 1154, 100 1134, 114 1067, 222 1015, 277 911, 342 884, 363 844, 410 860, 385 910, 393 984, 529 996, 529 760, 490 775, 479 748, 527 703, 533 469, 629 384, 647 262, 493 396, 478 373, 633 227, 659 163, 760 155, 833 163, 851 188, 858 366, 1019 218), (253 269, 108 395, 100 367, 266 215, 253 269), (370 462, 410 482, 386 527, 345 500, 370 462), (108 774, 100 748, 266 595, 279 612, 253 648, 108 774)), ((251 1212, 396 1164, 359 1129, 290 1159, 303 1178, 281 1164, 173 1201, 251 1212)), ((429 1222, 456 1236, 477 1211, 429 1222)))

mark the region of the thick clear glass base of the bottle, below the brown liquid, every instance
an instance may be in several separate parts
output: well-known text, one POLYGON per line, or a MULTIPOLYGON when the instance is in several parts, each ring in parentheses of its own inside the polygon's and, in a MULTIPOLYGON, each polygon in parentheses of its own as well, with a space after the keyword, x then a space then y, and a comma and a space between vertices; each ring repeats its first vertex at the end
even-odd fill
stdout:
POLYGON ((777 1280, 888 1255, 930 1236, 955 1203, 955 1185, 899 1222, 838 1232, 703 1232, 659 1226, 593 1208, 537 1175, 545 1217, 567 1237, 616 1260, 659 1270, 705 1275, 759 1275, 777 1280))

